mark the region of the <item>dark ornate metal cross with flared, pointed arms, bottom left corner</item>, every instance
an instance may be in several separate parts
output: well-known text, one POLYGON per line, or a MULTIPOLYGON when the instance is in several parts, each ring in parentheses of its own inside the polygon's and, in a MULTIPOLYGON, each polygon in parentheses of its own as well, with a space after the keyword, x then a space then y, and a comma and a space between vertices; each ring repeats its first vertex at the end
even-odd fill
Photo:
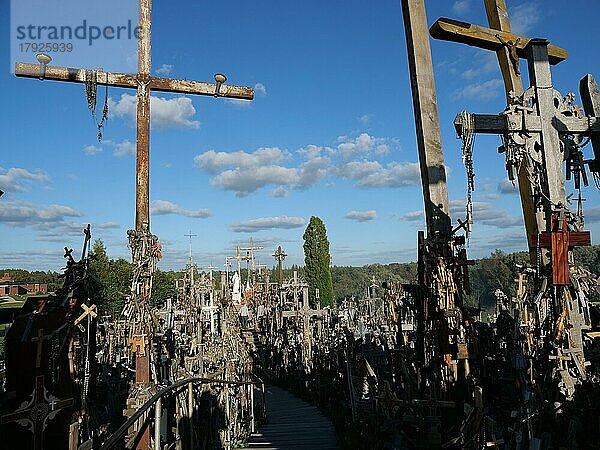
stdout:
POLYGON ((27 426, 33 432, 34 450, 42 450, 46 422, 53 419, 61 409, 72 405, 72 398, 59 400, 53 395, 48 395, 44 386, 44 376, 38 375, 31 400, 21 405, 15 412, 0 417, 0 424, 17 422, 19 425, 27 426))

